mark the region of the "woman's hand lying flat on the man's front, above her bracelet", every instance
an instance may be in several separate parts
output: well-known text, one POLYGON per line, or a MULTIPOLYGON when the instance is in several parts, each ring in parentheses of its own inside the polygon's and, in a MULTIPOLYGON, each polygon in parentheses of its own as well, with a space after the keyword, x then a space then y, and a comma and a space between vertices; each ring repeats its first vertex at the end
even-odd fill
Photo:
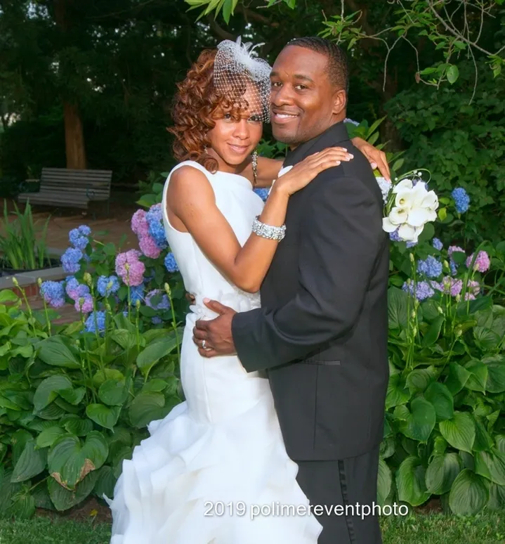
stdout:
POLYGON ((317 174, 323 170, 336 167, 342 161, 350 161, 354 158, 345 148, 327 148, 313 155, 309 155, 296 164, 274 183, 275 190, 282 190, 288 196, 306 187, 317 174))

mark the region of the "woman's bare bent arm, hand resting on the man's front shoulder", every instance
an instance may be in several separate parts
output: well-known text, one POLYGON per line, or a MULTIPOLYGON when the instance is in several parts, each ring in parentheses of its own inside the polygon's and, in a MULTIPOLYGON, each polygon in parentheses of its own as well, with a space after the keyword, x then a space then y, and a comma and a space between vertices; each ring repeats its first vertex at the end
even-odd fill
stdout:
MULTIPOLYGON (((344 155, 329 148, 296 164, 275 182, 260 221, 282 226, 289 196, 310 183, 321 171, 346 160, 342 158, 344 155)), ((252 233, 241 247, 230 224, 216 206, 214 190, 202 171, 185 166, 173 173, 167 191, 166 210, 171 225, 190 233, 223 276, 244 291, 259 290, 278 242, 252 233)))

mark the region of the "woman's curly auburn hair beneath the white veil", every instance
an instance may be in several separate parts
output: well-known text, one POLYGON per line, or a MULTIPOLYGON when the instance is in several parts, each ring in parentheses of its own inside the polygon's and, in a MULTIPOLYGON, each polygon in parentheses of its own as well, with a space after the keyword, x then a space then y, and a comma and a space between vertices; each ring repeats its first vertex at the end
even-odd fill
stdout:
POLYGON ((218 162, 205 152, 210 145, 207 133, 216 126, 215 120, 222 117, 222 112, 237 115, 237 110, 247 109, 247 101, 242 96, 251 83, 244 79, 239 88, 235 75, 228 96, 219 93, 213 84, 216 53, 217 49, 202 51, 184 81, 177 84, 172 113, 174 126, 168 129, 176 138, 174 157, 178 161, 199 162, 211 172, 218 169, 218 162))

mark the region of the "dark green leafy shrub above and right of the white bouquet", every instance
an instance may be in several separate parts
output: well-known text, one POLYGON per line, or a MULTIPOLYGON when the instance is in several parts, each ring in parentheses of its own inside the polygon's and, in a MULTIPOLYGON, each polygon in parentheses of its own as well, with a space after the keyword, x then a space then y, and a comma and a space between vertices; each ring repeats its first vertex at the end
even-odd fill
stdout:
MULTIPOLYGON (((439 226, 442 235, 466 243, 505 238, 505 87, 489 74, 481 76, 481 92, 471 105, 471 65, 452 88, 430 87, 399 93, 387 105, 389 119, 409 144, 407 167, 432 172, 431 188, 450 197, 461 186, 471 197, 464 218, 449 213, 439 226), (445 234, 443 234, 445 233, 445 234)), ((447 240, 445 240, 447 241, 447 240)))

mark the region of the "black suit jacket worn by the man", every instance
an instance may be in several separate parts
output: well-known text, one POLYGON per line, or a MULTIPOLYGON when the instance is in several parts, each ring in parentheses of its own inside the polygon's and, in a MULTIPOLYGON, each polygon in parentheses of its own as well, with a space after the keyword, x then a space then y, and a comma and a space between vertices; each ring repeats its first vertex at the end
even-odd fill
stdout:
POLYGON ((232 320, 244 368, 268 371, 294 460, 354 457, 383 438, 389 245, 381 190, 342 122, 299 145, 284 166, 334 145, 354 159, 290 197, 262 307, 232 320))

